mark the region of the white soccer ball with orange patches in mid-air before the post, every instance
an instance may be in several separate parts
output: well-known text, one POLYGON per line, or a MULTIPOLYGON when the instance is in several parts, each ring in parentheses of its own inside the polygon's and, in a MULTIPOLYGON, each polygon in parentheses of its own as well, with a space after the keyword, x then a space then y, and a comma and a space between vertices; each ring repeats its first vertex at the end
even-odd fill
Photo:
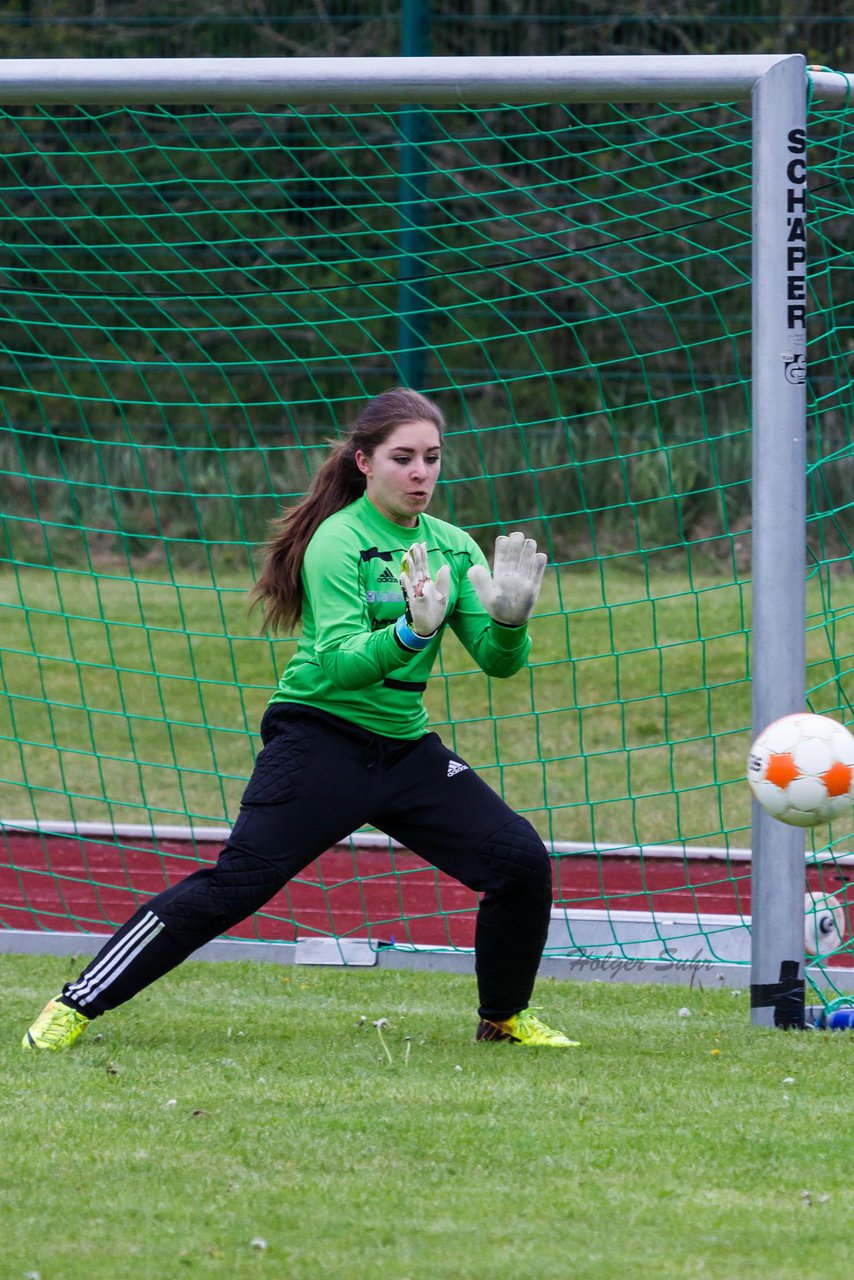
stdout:
POLYGON ((832 822, 854 804, 854 735, 828 716, 784 716, 750 748, 748 782, 790 827, 832 822))

